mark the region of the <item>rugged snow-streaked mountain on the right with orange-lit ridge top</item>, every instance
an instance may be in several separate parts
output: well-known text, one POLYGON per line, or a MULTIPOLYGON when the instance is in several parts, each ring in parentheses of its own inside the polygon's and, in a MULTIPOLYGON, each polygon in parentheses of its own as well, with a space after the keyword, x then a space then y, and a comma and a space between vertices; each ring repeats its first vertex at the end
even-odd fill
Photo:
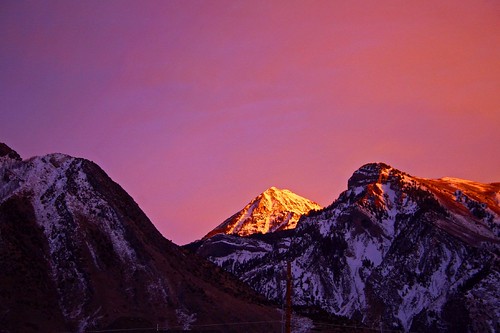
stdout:
POLYGON ((293 230, 216 235, 195 247, 267 298, 416 332, 500 331, 500 183, 425 179, 383 163, 355 171, 293 230))

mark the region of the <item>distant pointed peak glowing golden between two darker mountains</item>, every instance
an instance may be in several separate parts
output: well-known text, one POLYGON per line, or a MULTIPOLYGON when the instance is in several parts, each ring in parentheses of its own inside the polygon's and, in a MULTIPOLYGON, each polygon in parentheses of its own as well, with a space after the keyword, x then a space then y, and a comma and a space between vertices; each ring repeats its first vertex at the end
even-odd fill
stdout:
POLYGON ((289 190, 271 187, 203 238, 217 234, 248 236, 294 229, 300 216, 321 208, 289 190))

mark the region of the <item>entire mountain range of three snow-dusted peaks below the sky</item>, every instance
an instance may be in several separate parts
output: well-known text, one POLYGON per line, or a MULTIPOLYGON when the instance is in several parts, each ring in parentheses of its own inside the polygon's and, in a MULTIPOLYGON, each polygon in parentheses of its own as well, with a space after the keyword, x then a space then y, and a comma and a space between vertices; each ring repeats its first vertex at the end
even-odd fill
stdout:
POLYGON ((0 143, 0 332, 280 332, 287 262, 295 332, 498 332, 499 202, 370 163, 328 207, 271 187, 181 248, 95 163, 0 143))

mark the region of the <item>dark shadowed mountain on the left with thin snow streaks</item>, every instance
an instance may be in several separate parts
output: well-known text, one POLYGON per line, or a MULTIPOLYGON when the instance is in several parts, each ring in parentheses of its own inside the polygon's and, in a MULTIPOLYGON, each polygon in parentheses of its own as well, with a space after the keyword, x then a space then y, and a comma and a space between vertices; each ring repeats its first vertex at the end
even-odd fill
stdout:
POLYGON ((1 332, 279 330, 268 301, 166 240, 98 165, 63 154, 22 160, 0 144, 0 272, 1 332))

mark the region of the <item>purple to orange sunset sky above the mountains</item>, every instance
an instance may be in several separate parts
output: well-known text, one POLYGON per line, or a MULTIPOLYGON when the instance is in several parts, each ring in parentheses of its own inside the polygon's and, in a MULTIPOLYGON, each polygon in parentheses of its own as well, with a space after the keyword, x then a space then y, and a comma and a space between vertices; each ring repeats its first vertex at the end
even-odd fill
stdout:
POLYGON ((500 2, 0 2, 0 141, 98 163, 177 244, 360 166, 500 181, 500 2))

